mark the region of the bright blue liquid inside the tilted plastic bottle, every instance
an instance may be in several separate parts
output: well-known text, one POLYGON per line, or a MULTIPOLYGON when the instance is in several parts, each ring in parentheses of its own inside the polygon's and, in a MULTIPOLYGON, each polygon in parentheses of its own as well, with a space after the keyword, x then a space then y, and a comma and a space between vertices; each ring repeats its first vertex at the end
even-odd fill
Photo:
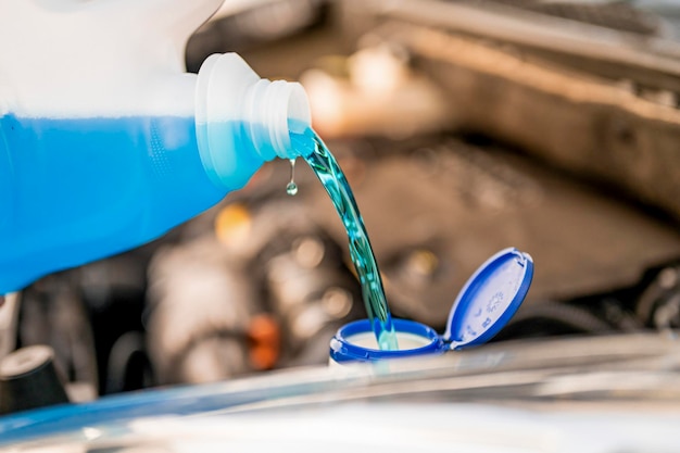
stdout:
POLYGON ((0 117, 0 293, 211 207, 263 163, 241 144, 240 176, 226 187, 202 165, 193 117, 0 117))

